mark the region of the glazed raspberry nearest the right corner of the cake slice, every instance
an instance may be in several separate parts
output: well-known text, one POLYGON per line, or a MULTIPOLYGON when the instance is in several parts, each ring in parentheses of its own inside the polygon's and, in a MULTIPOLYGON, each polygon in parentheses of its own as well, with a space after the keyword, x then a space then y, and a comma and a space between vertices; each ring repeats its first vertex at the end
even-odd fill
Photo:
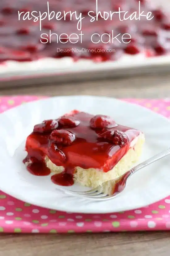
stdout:
POLYGON ((106 131, 100 134, 99 137, 120 147, 125 146, 129 141, 127 135, 124 132, 118 130, 106 131))

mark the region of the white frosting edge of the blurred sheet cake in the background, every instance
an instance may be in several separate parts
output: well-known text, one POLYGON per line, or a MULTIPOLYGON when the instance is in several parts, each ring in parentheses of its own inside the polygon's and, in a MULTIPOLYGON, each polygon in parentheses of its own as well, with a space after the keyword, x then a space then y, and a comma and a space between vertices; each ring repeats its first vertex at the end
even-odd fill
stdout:
POLYGON ((15 75, 45 75, 45 74, 67 74, 81 73, 84 71, 123 70, 136 67, 147 68, 150 65, 170 65, 169 56, 146 57, 144 52, 137 55, 124 54, 116 61, 94 62, 92 60, 80 59, 73 61, 71 57, 61 59, 45 58, 31 62, 6 61, 0 65, 1 79, 15 75))

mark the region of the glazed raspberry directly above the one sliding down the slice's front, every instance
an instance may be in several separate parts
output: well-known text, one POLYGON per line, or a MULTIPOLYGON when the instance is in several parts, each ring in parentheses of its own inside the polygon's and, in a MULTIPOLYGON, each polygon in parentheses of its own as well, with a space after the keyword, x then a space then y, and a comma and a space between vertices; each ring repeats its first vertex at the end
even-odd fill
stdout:
POLYGON ((64 146, 69 146, 76 139, 75 134, 66 130, 54 130, 50 134, 50 140, 62 144, 64 146))

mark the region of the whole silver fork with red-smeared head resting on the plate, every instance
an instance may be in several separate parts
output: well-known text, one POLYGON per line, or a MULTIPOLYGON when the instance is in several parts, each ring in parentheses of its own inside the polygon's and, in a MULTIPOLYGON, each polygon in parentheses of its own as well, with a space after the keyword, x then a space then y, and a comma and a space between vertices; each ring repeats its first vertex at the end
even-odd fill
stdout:
POLYGON ((67 192, 73 194, 73 195, 79 195, 81 197, 86 197, 86 198, 91 198, 95 200, 109 200, 112 199, 113 197, 119 195, 125 188, 127 179, 131 177, 134 173, 142 169, 143 167, 152 164, 159 159, 170 155, 170 148, 167 150, 164 150, 163 152, 152 156, 151 158, 147 159, 146 161, 138 164, 131 170, 127 171, 124 173, 121 177, 113 180, 109 180, 107 182, 103 182, 100 186, 97 186, 94 189, 84 191, 84 192, 78 192, 78 191, 70 191, 67 190, 67 192), (105 193, 105 186, 109 187, 109 192, 105 193))

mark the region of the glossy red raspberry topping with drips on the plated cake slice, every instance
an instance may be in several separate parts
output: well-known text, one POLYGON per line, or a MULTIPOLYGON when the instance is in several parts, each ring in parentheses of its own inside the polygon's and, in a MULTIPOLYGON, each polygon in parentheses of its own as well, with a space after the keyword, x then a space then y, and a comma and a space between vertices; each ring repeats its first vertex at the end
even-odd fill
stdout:
POLYGON ((75 110, 65 117, 67 120, 79 121, 79 125, 65 128, 64 123, 59 122, 55 129, 57 120, 63 117, 36 125, 27 138, 28 156, 24 159, 24 162, 31 161, 28 171, 40 175, 42 169, 42 175, 45 175, 50 172, 44 162, 45 156, 48 156, 53 164, 64 168, 62 174, 52 176, 54 183, 63 186, 74 183, 73 175, 77 166, 108 172, 129 150, 130 142, 139 135, 138 130, 119 124, 110 128, 110 125, 115 125, 115 121, 108 116, 94 116, 75 110), (96 125, 100 129, 96 129, 96 125))

